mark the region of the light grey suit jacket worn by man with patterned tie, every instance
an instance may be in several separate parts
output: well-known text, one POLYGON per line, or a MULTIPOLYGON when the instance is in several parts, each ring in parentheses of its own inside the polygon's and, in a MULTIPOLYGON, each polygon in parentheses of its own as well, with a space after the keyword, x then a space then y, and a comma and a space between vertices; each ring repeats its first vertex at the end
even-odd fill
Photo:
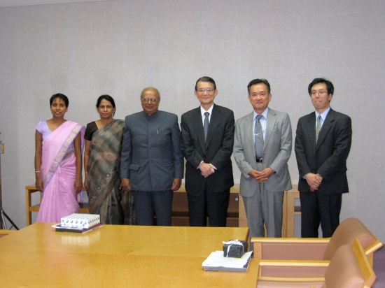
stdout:
MULTIPOLYGON (((241 196, 253 196, 260 185, 248 173, 257 169, 253 140, 253 113, 237 120, 235 125, 234 158, 241 171, 241 196)), ((288 159, 291 154, 292 135, 287 113, 269 108, 263 145, 262 169, 271 167, 276 171, 264 181, 267 192, 281 192, 291 189, 288 159)))

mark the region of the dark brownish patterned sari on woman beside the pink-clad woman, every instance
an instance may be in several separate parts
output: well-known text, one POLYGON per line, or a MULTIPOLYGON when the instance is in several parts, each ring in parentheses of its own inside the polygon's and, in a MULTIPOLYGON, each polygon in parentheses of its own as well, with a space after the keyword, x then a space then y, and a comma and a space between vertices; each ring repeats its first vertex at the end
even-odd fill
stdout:
POLYGON ((135 224, 131 193, 120 193, 120 152, 125 122, 113 120, 92 134, 87 164, 88 208, 103 224, 135 224))

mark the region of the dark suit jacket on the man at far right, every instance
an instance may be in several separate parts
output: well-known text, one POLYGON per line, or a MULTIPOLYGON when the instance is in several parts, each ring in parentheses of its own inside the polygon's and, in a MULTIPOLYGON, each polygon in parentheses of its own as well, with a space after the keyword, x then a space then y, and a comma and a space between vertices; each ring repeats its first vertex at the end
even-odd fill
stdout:
POLYGON ((323 177, 318 192, 324 195, 349 192, 346 178, 346 159, 351 146, 351 119, 330 108, 323 122, 316 144, 316 113, 298 120, 295 136, 295 156, 300 172, 298 189, 309 192, 303 178, 307 173, 323 177))

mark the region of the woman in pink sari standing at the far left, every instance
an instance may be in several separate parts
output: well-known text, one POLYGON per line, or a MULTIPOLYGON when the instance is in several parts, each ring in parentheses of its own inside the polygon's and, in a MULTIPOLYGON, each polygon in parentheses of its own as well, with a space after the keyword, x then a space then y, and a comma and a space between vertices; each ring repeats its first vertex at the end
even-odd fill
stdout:
POLYGON ((62 217, 79 211, 76 194, 83 188, 85 127, 64 119, 68 104, 64 94, 52 95, 52 119, 36 126, 36 189, 43 192, 36 222, 60 222, 62 217))

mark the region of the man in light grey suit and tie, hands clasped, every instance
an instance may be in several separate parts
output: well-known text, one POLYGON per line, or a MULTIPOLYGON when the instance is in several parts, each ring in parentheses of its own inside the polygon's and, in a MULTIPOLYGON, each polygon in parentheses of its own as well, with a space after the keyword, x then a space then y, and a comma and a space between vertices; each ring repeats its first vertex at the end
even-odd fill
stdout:
POLYGON ((248 83, 251 114, 235 124, 234 158, 241 171, 240 194, 244 200, 250 237, 282 236, 283 192, 291 189, 288 159, 291 124, 287 113, 269 109, 269 82, 248 83))

